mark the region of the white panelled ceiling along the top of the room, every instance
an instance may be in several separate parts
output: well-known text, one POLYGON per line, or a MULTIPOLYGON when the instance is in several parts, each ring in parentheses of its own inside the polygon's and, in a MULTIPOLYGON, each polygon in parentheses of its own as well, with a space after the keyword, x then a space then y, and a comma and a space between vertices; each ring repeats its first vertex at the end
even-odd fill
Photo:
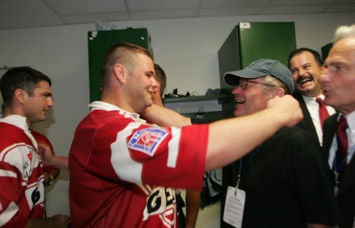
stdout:
POLYGON ((0 0, 0 29, 96 20, 349 12, 355 12, 355 0, 0 0))

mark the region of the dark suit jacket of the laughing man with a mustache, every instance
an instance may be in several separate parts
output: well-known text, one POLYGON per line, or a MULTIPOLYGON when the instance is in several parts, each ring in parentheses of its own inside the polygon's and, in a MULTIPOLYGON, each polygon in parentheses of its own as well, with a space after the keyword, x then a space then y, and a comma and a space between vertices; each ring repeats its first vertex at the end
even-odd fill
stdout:
POLYGON ((315 138, 315 140, 317 140, 317 142, 319 143, 317 131, 315 130, 312 118, 311 118, 310 113, 307 109, 307 105, 303 100, 302 94, 300 94, 299 92, 296 91, 292 94, 292 96, 296 100, 298 100, 298 102, 300 103, 302 113, 304 116, 303 120, 298 124, 298 126, 303 128, 304 130, 308 131, 315 138))

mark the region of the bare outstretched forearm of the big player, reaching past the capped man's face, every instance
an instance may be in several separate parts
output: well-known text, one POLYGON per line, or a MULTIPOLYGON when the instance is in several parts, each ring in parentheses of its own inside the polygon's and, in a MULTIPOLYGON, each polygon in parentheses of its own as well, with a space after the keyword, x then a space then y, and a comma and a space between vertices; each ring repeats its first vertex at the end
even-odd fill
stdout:
POLYGON ((282 115, 287 113, 266 108, 250 116, 210 124, 205 171, 223 167, 241 158, 281 127, 296 124, 302 117, 301 112, 298 118, 290 120, 282 115))

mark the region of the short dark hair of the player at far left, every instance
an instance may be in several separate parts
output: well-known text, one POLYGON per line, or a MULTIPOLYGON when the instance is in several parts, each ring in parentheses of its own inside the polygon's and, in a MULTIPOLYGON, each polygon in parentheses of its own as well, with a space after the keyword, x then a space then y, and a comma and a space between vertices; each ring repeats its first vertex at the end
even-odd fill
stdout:
POLYGON ((28 66, 14 67, 6 71, 0 79, 0 91, 4 99, 5 105, 10 105, 14 92, 17 89, 22 89, 28 93, 28 96, 33 96, 33 90, 38 87, 38 83, 45 81, 52 85, 51 80, 44 73, 32 69, 28 66))

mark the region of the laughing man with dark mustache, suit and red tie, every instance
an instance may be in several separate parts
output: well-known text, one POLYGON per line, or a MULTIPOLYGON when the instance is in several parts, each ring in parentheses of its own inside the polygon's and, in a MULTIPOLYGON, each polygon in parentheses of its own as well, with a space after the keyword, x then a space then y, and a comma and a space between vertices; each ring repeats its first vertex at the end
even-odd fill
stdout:
POLYGON ((335 113, 334 108, 324 105, 321 84, 317 81, 322 64, 321 55, 308 48, 297 49, 289 56, 289 68, 296 87, 293 96, 300 102, 304 115, 299 125, 321 145, 324 120, 335 113))

